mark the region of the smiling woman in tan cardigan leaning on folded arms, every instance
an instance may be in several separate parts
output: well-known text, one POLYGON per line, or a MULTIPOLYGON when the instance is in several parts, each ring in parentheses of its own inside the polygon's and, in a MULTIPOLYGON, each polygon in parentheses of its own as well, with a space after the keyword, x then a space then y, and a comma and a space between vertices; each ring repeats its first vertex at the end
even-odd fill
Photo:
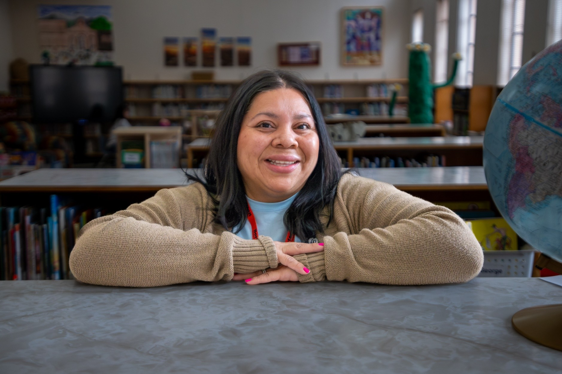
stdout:
POLYGON ((282 71, 242 82, 216 121, 205 177, 83 227, 76 279, 465 282, 483 254, 449 209, 341 174, 314 96, 282 71), (294 241, 292 241, 294 240, 294 241))

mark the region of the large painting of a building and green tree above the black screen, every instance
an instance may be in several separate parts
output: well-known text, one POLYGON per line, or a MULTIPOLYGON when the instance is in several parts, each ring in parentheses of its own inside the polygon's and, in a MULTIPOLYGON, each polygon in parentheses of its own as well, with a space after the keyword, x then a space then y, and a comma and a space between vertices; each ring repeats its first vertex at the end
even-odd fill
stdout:
POLYGON ((111 6, 39 5, 43 63, 113 65, 111 6))

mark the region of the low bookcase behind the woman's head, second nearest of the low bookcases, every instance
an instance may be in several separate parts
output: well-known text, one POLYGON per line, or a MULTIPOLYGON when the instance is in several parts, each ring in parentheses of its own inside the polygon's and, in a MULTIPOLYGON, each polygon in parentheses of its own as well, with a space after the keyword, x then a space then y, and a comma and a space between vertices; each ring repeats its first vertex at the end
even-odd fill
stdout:
MULTIPOLYGON (((445 156, 447 166, 481 166, 483 136, 430 136, 359 138, 356 142, 334 142, 333 147, 350 167, 359 157, 416 158, 420 154, 445 156)), ((196 139, 185 146, 187 166, 194 167, 209 150, 209 139, 196 139)), ((357 165, 359 166, 359 165, 357 165)))

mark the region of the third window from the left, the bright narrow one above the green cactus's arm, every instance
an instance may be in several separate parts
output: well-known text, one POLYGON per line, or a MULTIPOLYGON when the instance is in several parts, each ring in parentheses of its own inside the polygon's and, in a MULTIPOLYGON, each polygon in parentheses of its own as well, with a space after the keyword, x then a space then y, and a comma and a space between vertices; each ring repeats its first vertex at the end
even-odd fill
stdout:
POLYGON ((463 60, 459 61, 456 85, 461 88, 472 87, 474 38, 476 35, 476 2, 477 0, 459 0, 457 51, 463 55, 463 60))

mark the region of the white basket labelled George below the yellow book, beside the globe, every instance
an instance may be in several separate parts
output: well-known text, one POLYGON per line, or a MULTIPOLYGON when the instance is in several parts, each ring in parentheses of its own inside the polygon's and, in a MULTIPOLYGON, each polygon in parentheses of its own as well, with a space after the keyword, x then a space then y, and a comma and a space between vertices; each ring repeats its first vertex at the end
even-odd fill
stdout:
POLYGON ((534 250, 484 250, 479 277, 531 277, 534 250))

